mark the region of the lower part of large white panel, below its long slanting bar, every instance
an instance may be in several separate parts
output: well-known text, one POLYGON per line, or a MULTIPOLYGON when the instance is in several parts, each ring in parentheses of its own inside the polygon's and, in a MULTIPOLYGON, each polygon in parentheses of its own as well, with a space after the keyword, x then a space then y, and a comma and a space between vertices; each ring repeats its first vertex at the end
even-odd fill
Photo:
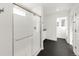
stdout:
POLYGON ((15 56, 31 56, 32 55, 32 37, 24 38, 16 41, 15 56))

